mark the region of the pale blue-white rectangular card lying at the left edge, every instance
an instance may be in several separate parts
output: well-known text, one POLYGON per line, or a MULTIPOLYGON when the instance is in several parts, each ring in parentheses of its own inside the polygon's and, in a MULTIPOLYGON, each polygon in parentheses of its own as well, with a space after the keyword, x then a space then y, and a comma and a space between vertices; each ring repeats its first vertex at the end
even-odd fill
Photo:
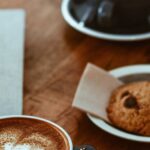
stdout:
POLYGON ((22 114, 25 12, 0 10, 0 116, 22 114))

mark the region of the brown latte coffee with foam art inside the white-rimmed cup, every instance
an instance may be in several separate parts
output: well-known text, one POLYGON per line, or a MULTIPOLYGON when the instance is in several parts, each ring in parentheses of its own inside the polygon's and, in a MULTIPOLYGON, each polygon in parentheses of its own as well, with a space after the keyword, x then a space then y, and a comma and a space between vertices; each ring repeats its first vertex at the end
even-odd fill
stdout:
POLYGON ((31 118, 0 119, 0 150, 70 150, 65 134, 31 118))

